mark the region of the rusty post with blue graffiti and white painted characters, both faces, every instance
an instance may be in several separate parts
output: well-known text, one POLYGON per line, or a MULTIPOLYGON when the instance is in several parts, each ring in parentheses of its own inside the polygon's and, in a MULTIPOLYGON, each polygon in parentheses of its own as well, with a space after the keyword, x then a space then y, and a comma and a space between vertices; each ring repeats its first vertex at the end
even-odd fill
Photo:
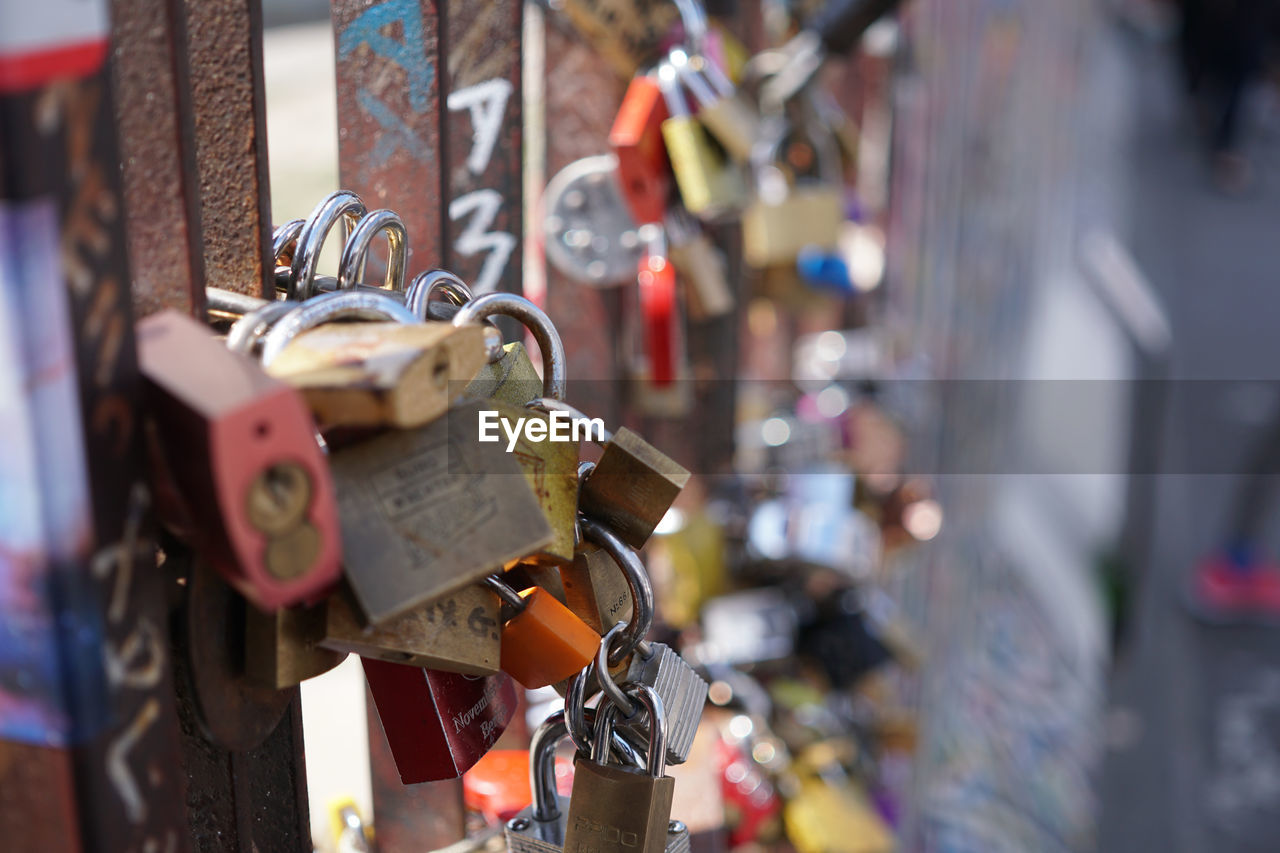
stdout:
MULTIPOLYGON (((521 292, 520 0, 333 0, 340 184, 408 232, 408 275, 444 266, 521 292)), ((379 275, 370 259, 370 275, 379 275)), ((460 784, 404 788, 369 706, 381 850, 462 836, 460 784)))

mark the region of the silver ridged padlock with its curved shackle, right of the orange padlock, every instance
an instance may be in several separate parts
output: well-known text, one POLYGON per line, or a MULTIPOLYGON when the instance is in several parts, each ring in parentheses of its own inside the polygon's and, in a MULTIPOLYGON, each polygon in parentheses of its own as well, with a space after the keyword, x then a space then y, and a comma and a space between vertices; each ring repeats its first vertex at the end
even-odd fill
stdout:
MULTIPOLYGON (((626 576, 627 585, 631 587, 631 601, 637 602, 637 612, 644 611, 646 605, 652 610, 653 588, 635 551, 604 524, 586 516, 580 516, 579 523, 582 535, 608 552, 626 576)), ((608 669, 609 665, 617 665, 620 662, 617 658, 622 657, 617 654, 620 649, 613 643, 613 637, 618 634, 627 637, 634 631, 635 626, 627 622, 618 622, 609 629, 600 643, 595 672, 605 695, 622 710, 625 719, 618 721, 620 725, 626 729, 645 730, 646 720, 640 708, 609 678, 608 669)), ((631 643, 623 644, 623 648, 627 647, 631 647, 631 643)), ((676 649, 664 643, 637 642, 634 648, 635 653, 623 681, 644 684, 658 693, 663 708, 667 710, 667 763, 684 763, 694 745, 694 735, 698 734, 709 685, 676 649)))

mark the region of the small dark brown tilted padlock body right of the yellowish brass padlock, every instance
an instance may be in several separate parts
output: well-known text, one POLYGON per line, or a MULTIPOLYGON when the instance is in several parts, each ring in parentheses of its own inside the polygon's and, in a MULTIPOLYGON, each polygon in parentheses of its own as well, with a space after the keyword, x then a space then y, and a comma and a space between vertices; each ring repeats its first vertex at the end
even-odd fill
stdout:
POLYGON ((582 482, 579 503, 584 514, 640 548, 689 476, 687 469, 622 426, 604 443, 595 470, 582 482))

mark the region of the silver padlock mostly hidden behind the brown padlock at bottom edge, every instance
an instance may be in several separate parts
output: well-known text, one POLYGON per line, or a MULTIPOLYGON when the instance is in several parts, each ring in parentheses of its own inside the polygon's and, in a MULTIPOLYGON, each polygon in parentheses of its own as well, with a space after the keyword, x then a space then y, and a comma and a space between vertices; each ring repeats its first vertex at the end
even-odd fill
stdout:
MULTIPOLYGON (((586 708, 594 713, 594 708, 586 708)), ((591 717, 594 724, 594 717, 591 717)), ((529 786, 532 803, 507 821, 503 835, 511 853, 559 853, 564 849, 568 822, 568 797, 556 788, 556 748, 568 735, 564 712, 557 711, 534 730, 529 739, 529 786)), ((644 753, 617 733, 612 748, 628 763, 643 767, 644 753)), ((676 853, 672 850, 671 853, 676 853)))

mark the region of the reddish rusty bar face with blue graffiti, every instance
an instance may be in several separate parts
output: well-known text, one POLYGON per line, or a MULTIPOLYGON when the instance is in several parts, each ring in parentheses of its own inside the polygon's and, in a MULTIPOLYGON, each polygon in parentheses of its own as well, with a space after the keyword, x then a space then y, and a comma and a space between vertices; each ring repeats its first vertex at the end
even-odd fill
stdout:
MULTIPOLYGON (((408 232, 410 277, 443 266, 439 19, 431 0, 333 0, 338 175, 408 232)), ((381 260, 366 274, 380 278, 381 260)))

